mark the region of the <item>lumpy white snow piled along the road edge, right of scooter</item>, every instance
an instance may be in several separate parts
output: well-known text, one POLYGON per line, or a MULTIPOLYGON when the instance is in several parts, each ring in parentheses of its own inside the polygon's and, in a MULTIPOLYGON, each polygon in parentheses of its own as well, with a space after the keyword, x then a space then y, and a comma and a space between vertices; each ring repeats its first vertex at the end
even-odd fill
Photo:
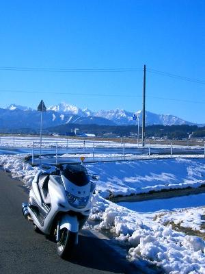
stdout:
POLYGON ((165 273, 205 273, 205 242, 197 236, 176 232, 171 225, 153 221, 153 215, 139 214, 110 201, 94 197, 91 219, 100 219, 96 229, 109 229, 122 245, 130 246, 128 257, 137 262, 142 257, 165 273))

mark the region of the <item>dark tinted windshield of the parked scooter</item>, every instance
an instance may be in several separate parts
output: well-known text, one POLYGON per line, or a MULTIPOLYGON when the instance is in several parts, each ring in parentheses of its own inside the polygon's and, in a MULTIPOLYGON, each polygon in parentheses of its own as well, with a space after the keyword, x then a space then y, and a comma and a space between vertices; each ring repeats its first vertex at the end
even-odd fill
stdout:
POLYGON ((66 177, 70 182, 77 186, 85 186, 90 182, 87 170, 80 164, 67 165, 62 175, 66 177))

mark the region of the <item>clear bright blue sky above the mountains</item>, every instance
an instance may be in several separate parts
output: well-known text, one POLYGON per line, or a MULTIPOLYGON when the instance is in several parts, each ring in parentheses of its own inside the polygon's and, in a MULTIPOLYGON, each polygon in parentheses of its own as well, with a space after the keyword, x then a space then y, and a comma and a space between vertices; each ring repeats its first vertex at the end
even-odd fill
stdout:
MULTIPOLYGON (((204 0, 1 1, 0 67, 143 69, 146 64, 205 81, 204 14, 204 0)), ((0 107, 17 103, 36 108, 43 99, 47 106, 66 101, 91 110, 134 112, 141 109, 142 84, 142 71, 0 70, 0 107)), ((205 123, 204 89, 204 84, 147 73, 146 109, 205 123)))

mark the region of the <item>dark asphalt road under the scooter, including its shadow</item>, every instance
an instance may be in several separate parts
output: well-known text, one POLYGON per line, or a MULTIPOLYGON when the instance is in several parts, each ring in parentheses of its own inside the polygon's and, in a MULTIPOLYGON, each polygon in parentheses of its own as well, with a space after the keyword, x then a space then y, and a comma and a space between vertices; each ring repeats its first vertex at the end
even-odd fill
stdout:
POLYGON ((33 231, 21 204, 28 200, 22 182, 0 171, 0 273, 142 273, 105 243, 86 232, 69 260, 57 256, 56 243, 33 231))

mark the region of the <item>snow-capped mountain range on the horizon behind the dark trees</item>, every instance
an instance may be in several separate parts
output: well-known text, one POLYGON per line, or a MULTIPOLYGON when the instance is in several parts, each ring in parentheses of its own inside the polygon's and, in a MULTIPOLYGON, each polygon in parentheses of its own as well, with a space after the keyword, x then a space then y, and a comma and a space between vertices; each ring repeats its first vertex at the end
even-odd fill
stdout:
MULTIPOLYGON (((139 116, 141 125, 141 110, 135 112, 139 116)), ((36 127, 39 125, 40 113, 31 108, 12 104, 8 108, 0 108, 0 126, 7 126, 8 123, 14 127, 36 127)), ((133 120, 133 112, 126 110, 100 110, 92 112, 87 108, 81 110, 77 106, 68 103, 51 105, 44 112, 44 126, 51 127, 66 123, 75 124, 97 124, 97 125, 136 125, 133 120)), ((174 115, 154 114, 146 112, 146 125, 194 125, 194 123, 184 121, 174 115)))

